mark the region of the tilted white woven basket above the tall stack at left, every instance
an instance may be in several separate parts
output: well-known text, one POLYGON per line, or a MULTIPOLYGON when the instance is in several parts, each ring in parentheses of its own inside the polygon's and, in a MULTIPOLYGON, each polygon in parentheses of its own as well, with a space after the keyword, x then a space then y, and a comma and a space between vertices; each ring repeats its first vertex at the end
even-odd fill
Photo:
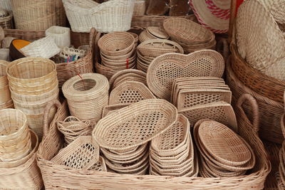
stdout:
POLYGON ((51 36, 46 36, 45 38, 33 41, 24 48, 21 48, 20 51, 26 57, 51 58, 59 53, 60 49, 56 46, 51 36))

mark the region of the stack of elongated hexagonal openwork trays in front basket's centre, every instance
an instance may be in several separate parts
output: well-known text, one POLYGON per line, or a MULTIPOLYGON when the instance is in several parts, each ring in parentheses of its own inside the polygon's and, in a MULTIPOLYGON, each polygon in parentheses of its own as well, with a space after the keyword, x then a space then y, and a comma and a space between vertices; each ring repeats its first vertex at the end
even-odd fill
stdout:
POLYGON ((166 132, 152 139, 150 174, 197 176, 197 155, 190 134, 190 123, 183 115, 166 132))

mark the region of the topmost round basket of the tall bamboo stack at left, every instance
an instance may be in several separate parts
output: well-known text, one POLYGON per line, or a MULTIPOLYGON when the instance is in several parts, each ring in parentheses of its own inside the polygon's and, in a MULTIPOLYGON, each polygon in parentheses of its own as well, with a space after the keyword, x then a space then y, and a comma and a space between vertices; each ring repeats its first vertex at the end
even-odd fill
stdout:
POLYGON ((56 63, 46 58, 21 58, 7 66, 7 76, 21 85, 42 85, 56 77, 56 63))

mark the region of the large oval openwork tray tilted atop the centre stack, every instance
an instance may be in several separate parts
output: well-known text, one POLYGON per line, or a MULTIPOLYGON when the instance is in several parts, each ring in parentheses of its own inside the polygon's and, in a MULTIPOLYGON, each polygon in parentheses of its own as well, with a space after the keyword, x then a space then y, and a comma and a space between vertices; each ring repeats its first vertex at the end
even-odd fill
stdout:
POLYGON ((93 139, 100 147, 130 149, 165 132, 176 119, 177 110, 169 102, 142 100, 100 120, 93 130, 93 139), (130 138, 132 142, 125 141, 130 138))

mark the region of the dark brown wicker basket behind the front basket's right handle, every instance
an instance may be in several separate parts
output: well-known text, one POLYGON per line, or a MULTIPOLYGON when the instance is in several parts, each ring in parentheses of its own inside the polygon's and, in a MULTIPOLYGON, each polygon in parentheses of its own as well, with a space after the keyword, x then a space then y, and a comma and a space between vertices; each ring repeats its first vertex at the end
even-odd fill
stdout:
MULTIPOLYGON (((233 72, 231 64, 229 63, 230 59, 232 60, 233 58, 229 57, 228 64, 226 67, 227 84, 232 90, 233 105, 244 93, 252 95, 257 100, 257 103, 259 105, 260 137, 263 139, 267 139, 271 142, 277 142, 281 144, 284 139, 280 127, 281 115, 284 113, 283 103, 276 102, 274 100, 269 99, 268 97, 264 97, 244 85, 244 83, 242 83, 242 81, 237 78, 236 72, 233 72)), ((249 113, 249 118, 252 119, 252 115, 250 114, 252 112, 252 108, 247 103, 245 103, 244 109, 246 110, 246 112, 249 113)))

